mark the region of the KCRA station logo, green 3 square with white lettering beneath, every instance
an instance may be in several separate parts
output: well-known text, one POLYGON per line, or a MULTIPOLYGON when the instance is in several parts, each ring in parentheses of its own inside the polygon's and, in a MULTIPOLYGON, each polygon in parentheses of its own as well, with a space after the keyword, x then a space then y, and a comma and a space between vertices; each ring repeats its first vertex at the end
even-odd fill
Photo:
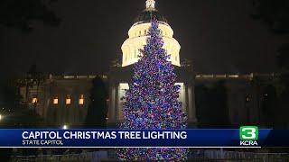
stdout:
POLYGON ((258 146, 259 131, 256 126, 244 126, 239 129, 240 146, 258 146))

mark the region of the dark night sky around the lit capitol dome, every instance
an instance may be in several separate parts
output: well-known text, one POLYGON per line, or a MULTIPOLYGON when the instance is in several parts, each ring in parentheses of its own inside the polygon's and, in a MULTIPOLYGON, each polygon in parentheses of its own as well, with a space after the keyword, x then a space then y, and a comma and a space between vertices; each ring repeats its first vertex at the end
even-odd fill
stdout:
MULTIPOLYGON (((121 58, 121 45, 145 0, 60 0, 53 4, 59 27, 35 23, 33 33, 0 28, 0 74, 23 73, 36 63, 44 72, 99 73, 121 58)), ((157 0, 200 73, 275 71, 284 38, 254 22, 251 0, 157 0)))

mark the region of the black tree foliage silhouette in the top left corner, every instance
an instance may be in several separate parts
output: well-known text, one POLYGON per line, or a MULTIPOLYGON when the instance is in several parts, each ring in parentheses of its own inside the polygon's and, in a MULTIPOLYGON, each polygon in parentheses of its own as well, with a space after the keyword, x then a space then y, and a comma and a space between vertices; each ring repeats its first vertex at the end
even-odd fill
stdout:
POLYGON ((32 31, 33 22, 58 25, 60 19, 49 7, 55 1, 57 0, 1 0, 0 25, 22 31, 32 31))

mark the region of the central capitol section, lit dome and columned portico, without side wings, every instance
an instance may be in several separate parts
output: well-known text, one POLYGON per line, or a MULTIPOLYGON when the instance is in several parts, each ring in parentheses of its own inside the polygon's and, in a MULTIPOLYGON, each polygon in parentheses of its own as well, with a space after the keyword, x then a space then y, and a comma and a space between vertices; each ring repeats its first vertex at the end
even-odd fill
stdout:
POLYGON ((122 120, 122 108, 124 101, 121 98, 124 96, 131 76, 133 75, 133 66, 139 59, 139 49, 144 49, 146 43, 147 32, 151 26, 152 18, 158 20, 161 34, 163 35, 163 49, 171 55, 169 61, 175 66, 178 76, 177 84, 181 85, 180 102, 182 108, 188 113, 189 122, 195 125, 197 122, 196 109, 193 101, 193 72, 190 67, 181 66, 180 50, 181 45, 173 38, 173 31, 167 20, 155 9, 155 1, 147 0, 146 8, 139 14, 135 23, 128 31, 128 39, 125 40, 121 49, 123 51, 122 66, 114 67, 109 73, 109 112, 108 122, 116 123, 122 120))

